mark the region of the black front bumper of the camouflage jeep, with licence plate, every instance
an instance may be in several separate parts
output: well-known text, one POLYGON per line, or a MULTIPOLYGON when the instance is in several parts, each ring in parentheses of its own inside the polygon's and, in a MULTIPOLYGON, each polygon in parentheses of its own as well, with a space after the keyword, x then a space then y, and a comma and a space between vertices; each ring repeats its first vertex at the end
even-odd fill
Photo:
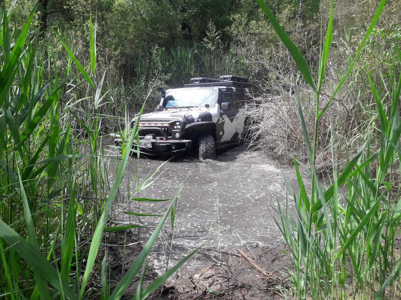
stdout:
MULTIPOLYGON (((140 139, 139 142, 151 143, 151 147, 139 145, 139 149, 143 152, 175 153, 189 151, 192 148, 192 140, 190 139, 140 139)), ((114 144, 121 145, 121 143, 121 138, 114 138, 114 144)), ((134 140, 132 147, 135 149, 138 147, 136 140, 134 140)))

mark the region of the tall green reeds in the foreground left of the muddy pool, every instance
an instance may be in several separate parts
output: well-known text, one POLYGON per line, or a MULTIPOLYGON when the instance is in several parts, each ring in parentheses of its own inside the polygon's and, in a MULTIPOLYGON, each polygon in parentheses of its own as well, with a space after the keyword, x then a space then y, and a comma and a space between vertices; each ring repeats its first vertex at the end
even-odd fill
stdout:
MULTIPOLYGON (((0 11, 0 297, 83 299, 100 293, 119 299, 139 275, 166 218, 174 214, 177 197, 121 280, 110 286, 101 245, 113 231, 137 227, 112 226, 109 215, 139 117, 133 128, 124 130, 121 160, 109 186, 99 111, 105 75, 97 71, 96 24, 90 21, 87 64, 54 33, 67 54, 60 65, 50 47, 44 51, 38 46, 31 26, 36 7, 20 32, 17 26, 11 32, 12 9, 6 9, 4 0, 0 11), (77 86, 85 87, 82 98, 76 98, 77 86), (74 100, 66 101, 70 97, 74 100), (94 274, 102 280, 90 284, 94 274)), ((139 116, 142 111, 143 106, 139 116)), ((151 179, 138 182, 135 191, 151 179)), ((133 195, 130 200, 152 199, 133 195)), ((146 287, 143 272, 132 296, 145 299, 195 251, 146 287)))

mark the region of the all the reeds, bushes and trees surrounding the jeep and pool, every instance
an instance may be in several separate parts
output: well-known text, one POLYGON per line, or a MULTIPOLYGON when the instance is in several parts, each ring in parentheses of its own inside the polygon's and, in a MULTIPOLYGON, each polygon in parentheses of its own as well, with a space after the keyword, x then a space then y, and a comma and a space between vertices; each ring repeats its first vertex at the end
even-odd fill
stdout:
MULTIPOLYGON (((385 293, 390 289, 381 286, 395 286, 399 144, 388 140, 399 126, 393 112, 401 73, 399 1, 386 3, 367 35, 376 0, 303 0, 301 14, 299 0, 259 1, 283 30, 254 0, 40 0, 27 32, 35 0, 5 2, 15 6, 3 17, 0 39, 0 213, 19 234, 4 227, 14 241, 33 253, 24 260, 17 245, 1 241, 0 290, 7 297, 47 293, 54 278, 36 272, 32 257, 74 295, 102 289, 89 284, 90 268, 82 285, 91 232, 101 235, 97 225, 110 203, 102 134, 124 127, 120 116, 139 112, 144 99, 144 109, 153 109, 159 100, 153 86, 229 73, 254 82, 258 142, 299 170, 295 220, 281 211, 299 297, 363 297, 373 295, 363 294, 366 286, 385 293), (25 41, 16 43, 19 36, 25 41), (301 176, 308 173, 310 196, 301 176), (323 194, 322 174, 333 182, 323 194), (337 193, 342 183, 347 196, 337 193)), ((102 268, 99 249, 91 251, 95 273, 102 268)), ((115 287, 103 282, 104 291, 115 287)), ((57 288, 49 292, 59 296, 57 288)))

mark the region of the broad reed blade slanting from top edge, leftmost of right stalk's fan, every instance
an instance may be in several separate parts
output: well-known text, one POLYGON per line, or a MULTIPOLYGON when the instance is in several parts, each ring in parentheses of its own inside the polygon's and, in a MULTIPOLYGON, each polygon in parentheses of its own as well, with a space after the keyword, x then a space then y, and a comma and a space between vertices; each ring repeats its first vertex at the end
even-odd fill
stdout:
POLYGON ((301 51, 297 48, 294 42, 290 39, 284 29, 280 26, 279 22, 277 21, 276 17, 266 5, 264 0, 256 0, 259 6, 262 8, 268 19, 273 25, 274 30, 276 30, 277 35, 280 37, 281 41, 284 43, 288 51, 290 52, 291 56, 294 58, 295 63, 297 64, 299 70, 305 77, 305 80, 309 83, 309 85, 315 90, 315 83, 312 79, 310 74, 309 65, 306 62, 304 56, 302 55, 301 51))

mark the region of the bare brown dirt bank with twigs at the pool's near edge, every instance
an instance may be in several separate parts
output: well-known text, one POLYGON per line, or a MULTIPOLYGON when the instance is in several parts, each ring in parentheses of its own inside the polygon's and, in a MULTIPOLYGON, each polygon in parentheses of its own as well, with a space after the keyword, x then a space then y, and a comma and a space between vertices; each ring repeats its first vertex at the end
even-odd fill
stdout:
MULTIPOLYGON (((141 243, 130 232, 119 234, 109 249, 110 278, 118 282, 142 249, 141 243), (124 246, 122 246, 124 245, 124 246)), ((149 299, 282 299, 291 298, 289 273, 292 265, 284 245, 243 247, 236 252, 199 253, 212 256, 214 263, 203 266, 198 273, 187 277, 179 273, 171 276, 163 287, 149 299), (245 255, 245 256, 243 256, 245 255), (252 264, 253 263, 253 264, 252 264)), ((152 261, 144 286, 157 277, 152 261)), ((139 276, 127 289, 123 299, 135 294, 139 276)), ((112 289, 112 287, 111 287, 112 289)))

